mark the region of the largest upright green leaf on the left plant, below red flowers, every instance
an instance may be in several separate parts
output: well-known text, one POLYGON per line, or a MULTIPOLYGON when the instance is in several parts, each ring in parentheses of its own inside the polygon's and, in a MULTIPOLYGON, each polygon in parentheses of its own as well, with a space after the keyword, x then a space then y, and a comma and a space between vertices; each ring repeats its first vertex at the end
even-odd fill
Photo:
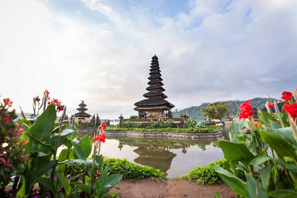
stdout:
POLYGON ((36 122, 30 128, 29 133, 41 142, 47 141, 52 135, 56 118, 55 107, 53 104, 50 104, 46 110, 36 118, 36 122))

